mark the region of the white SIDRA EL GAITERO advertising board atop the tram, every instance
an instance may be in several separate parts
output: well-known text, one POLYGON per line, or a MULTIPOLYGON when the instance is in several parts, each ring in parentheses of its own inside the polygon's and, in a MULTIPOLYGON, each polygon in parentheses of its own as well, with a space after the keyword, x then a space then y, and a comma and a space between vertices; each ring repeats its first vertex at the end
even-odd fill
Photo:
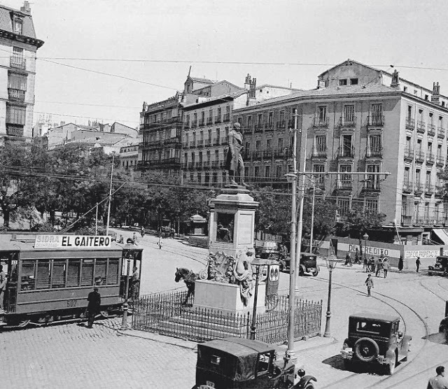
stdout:
POLYGON ((36 235, 34 248, 110 248, 111 236, 36 235))

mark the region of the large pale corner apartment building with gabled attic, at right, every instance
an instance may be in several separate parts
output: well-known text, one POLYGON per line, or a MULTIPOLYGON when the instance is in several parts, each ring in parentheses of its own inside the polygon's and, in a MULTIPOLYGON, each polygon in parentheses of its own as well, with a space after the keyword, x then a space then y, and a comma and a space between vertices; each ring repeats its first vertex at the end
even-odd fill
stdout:
POLYGON ((429 90, 398 72, 347 60, 318 76, 315 90, 239 108, 234 120, 246 133, 246 176, 253 181, 284 182, 292 166, 288 129, 297 118, 299 169, 305 160, 320 195, 334 199, 342 218, 358 204, 386 213, 386 223, 430 227, 443 225, 448 213, 440 181, 447 105, 436 84, 429 90), (390 175, 372 174, 384 171, 390 175))

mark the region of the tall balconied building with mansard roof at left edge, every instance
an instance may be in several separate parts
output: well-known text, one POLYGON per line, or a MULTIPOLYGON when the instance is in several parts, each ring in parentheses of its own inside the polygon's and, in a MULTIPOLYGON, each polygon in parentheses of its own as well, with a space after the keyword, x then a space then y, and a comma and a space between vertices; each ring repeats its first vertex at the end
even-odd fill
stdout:
POLYGON ((0 6, 0 143, 32 137, 36 51, 43 41, 36 38, 28 1, 20 10, 0 6))

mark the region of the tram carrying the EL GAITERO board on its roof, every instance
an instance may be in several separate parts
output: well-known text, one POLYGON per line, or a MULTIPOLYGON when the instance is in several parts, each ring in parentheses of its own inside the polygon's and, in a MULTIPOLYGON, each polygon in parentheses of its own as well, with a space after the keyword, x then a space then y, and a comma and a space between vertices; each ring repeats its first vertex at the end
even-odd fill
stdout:
MULTIPOLYGON (((0 327, 83 319, 94 286, 102 315, 118 312, 129 269, 137 268, 139 279, 141 258, 141 248, 110 236, 0 234, 0 264, 7 276, 0 327)), ((136 283, 133 288, 139 288, 136 283)))

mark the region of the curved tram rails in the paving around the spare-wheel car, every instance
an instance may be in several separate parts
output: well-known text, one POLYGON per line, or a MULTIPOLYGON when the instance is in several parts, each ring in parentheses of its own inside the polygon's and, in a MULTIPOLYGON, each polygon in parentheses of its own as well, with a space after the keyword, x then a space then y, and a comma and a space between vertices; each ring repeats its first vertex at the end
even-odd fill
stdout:
MULTIPOLYGON (((326 280, 325 278, 321 278, 321 277, 315 277, 315 278, 311 278, 311 279, 314 279, 315 281, 318 281, 318 282, 320 281, 320 282, 328 283, 328 280, 326 280)), ((341 283, 334 283, 334 285, 338 285, 340 288, 346 288, 346 289, 349 289, 349 290, 353 290, 353 291, 356 291, 356 292, 362 292, 362 293, 363 293, 363 290, 359 290, 359 289, 357 289, 357 288, 353 288, 353 287, 351 287, 351 286, 344 285, 344 284, 341 284, 341 283)), ((422 351, 423 351, 424 349, 426 349, 426 347, 428 346, 428 334, 429 334, 428 325, 426 324, 426 321, 421 317, 421 315, 420 315, 419 313, 417 313, 417 312, 416 312, 411 306, 409 306, 408 304, 405 304, 405 303, 401 302, 399 299, 395 299, 395 298, 393 298, 393 297, 384 295, 384 294, 379 293, 379 292, 374 292, 374 295, 372 295, 372 297, 373 297, 374 299, 379 300, 381 303, 386 304, 387 306, 390 306, 391 309, 393 309, 393 311, 395 311, 395 312, 398 314, 398 316, 400 316, 400 318, 402 319, 403 328, 404 328, 404 330, 405 330, 405 332, 406 332, 406 328, 407 328, 407 320, 404 318, 402 312, 399 311, 398 308, 396 308, 395 306, 393 306, 393 304, 384 301, 384 299, 390 299, 390 300, 393 301, 393 302, 396 302, 396 303, 398 303, 398 304, 401 304, 402 306, 405 306, 405 308, 408 309, 409 311, 411 311, 411 312, 412 312, 412 313, 419 319, 419 321, 423 324, 423 328, 424 328, 425 336, 424 336, 423 346, 421 346, 421 347, 416 351, 416 355, 415 355, 414 358, 412 358, 412 360, 408 360, 408 362, 406 362, 406 365, 403 365, 401 369, 399 369, 397 372, 394 373, 394 375, 392 375, 392 376, 385 376, 384 378, 379 379, 379 381, 377 381, 376 383, 372 384, 371 386, 368 386, 368 388, 373 388, 374 386, 377 386, 377 385, 379 385, 380 383, 384 383, 385 381, 388 381, 388 380, 390 380, 390 379, 392 379, 392 378, 396 378, 396 376, 398 376, 398 374, 401 375, 403 372, 407 372, 407 371, 409 370, 409 366, 414 366, 414 365, 413 365, 413 362, 416 362, 416 360, 419 360, 419 358, 421 358, 421 353, 422 353, 422 351), (377 297, 377 296, 375 296, 375 295, 380 296, 380 297, 377 297)), ((419 373, 416 373, 414 376, 416 376, 416 375, 418 375, 418 374, 421 374, 422 372, 425 372, 425 371, 426 371, 426 370, 423 370, 423 371, 421 371, 421 372, 419 372, 419 373)), ((358 373, 353 373, 353 374, 350 374, 349 376, 344 377, 344 379, 341 379, 341 380, 339 380, 339 381, 335 381, 335 382, 333 382, 333 383, 330 383, 329 385, 324 386, 323 388, 332 388, 332 387, 338 386, 338 385, 339 385, 340 383, 342 383, 342 382, 344 382, 344 386, 346 386, 346 384, 347 384, 347 380, 353 379, 353 381, 354 381, 354 379, 355 379, 356 377, 359 377, 359 374, 358 374, 358 373)), ((408 380, 409 380, 409 378, 406 378, 406 379, 402 380, 401 382, 404 383, 404 382, 406 382, 406 381, 408 381, 408 380)), ((350 383, 350 381, 348 381, 348 383, 350 383)), ((389 386, 388 388, 393 388, 393 387, 395 387, 395 386, 396 386, 396 383, 394 383, 392 386, 389 386)), ((322 388, 322 389, 323 389, 323 388, 322 388)))

